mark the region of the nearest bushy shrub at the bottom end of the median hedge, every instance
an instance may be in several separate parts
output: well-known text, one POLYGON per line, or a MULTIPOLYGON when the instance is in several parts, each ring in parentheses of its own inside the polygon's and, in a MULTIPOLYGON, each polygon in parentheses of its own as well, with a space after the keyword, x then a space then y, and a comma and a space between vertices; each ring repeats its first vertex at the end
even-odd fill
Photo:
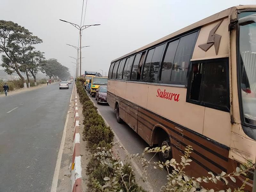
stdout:
POLYGON ((87 172, 91 183, 88 184, 90 190, 98 192, 127 191, 145 192, 135 182, 135 174, 130 164, 121 162, 120 157, 116 157, 111 149, 98 148, 87 165, 87 172))

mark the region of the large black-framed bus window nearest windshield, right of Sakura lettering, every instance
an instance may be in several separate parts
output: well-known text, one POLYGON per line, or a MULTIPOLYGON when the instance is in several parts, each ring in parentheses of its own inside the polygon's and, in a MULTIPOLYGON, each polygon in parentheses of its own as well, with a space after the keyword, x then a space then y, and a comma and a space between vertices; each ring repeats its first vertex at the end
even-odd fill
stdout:
POLYGON ((229 110, 228 59, 192 63, 187 101, 223 111, 229 110))

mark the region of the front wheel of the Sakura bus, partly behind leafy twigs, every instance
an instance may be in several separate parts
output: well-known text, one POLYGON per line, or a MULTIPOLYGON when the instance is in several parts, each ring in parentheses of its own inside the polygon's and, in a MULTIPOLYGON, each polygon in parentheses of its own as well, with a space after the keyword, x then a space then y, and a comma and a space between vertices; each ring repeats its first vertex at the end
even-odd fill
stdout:
MULTIPOLYGON (((162 147, 164 145, 171 147, 171 141, 166 133, 162 134, 158 139, 158 147, 162 147)), ((160 161, 165 163, 165 161, 172 159, 172 148, 158 154, 160 161)))

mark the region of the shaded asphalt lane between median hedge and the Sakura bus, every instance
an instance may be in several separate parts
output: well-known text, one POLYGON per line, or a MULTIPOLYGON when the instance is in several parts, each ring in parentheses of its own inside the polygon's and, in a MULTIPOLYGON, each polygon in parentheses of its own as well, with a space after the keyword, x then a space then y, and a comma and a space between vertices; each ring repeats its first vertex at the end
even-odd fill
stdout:
MULTIPOLYGON (((89 94, 88 94, 89 95, 89 94)), ((89 95, 90 96, 90 95, 89 95)), ((97 104, 95 97, 90 96, 97 106, 100 114, 105 118, 108 122, 109 126, 113 129, 119 140, 124 145, 124 148, 130 154, 137 154, 143 153, 144 148, 149 147, 149 145, 137 134, 135 133, 132 128, 130 128, 127 124, 122 123, 119 124, 116 122, 116 116, 114 110, 112 110, 108 104, 97 104)), ((152 155, 146 156, 149 160, 152 155)), ((158 156, 153 158, 153 161, 159 161, 158 156)), ((179 160, 178 160, 179 162, 179 160)), ((141 168, 141 163, 136 162, 136 164, 141 168)), ((163 186, 167 182, 166 175, 168 174, 167 171, 154 169, 151 166, 148 169, 148 182, 151 184, 154 191, 160 191, 161 186, 163 186)))

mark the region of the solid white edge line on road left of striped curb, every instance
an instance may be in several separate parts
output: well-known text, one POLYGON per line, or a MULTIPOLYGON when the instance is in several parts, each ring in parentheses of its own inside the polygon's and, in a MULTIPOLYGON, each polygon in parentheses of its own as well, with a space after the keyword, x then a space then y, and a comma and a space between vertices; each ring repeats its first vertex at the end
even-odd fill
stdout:
MULTIPOLYGON (((74 91, 74 86, 73 86, 73 89, 72 89, 71 97, 73 95, 73 91, 74 91)), ((71 102, 71 97, 70 97, 70 102, 71 102)), ((60 174, 60 164, 61 164, 61 158, 62 158, 62 153, 63 153, 65 139, 66 139, 66 130, 67 130, 67 125, 68 125, 68 117, 69 117, 69 111, 68 111, 66 122, 65 122, 65 125, 64 125, 64 130, 63 130, 62 139, 61 139, 61 143, 60 143, 60 150, 59 150, 59 153, 58 153, 57 162, 56 162, 56 166, 55 166, 55 170, 54 170, 54 175, 53 175, 53 178, 52 178, 51 192, 56 192, 57 187, 58 187, 58 179, 59 179, 59 174, 60 174)))

